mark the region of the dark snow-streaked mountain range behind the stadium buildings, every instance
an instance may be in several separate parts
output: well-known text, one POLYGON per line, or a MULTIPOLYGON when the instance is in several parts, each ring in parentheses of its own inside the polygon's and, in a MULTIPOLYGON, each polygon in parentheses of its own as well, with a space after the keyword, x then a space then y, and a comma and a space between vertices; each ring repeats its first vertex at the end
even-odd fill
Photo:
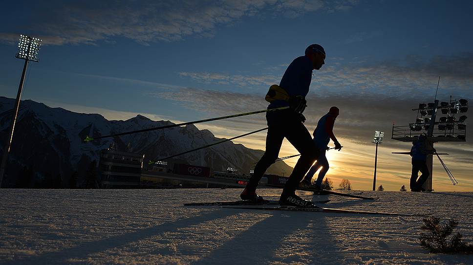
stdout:
MULTIPOLYGON (((1 153, 12 119, 14 102, 15 99, 0 97, 0 137, 3 140, 1 153)), ((133 153, 144 154, 143 164, 146 167, 149 160, 223 140, 215 137, 209 130, 186 125, 83 142, 87 135, 99 137, 172 124, 171 121, 153 121, 143 115, 128 120, 107 120, 100 114, 74 113, 63 108, 50 108, 32 100, 21 101, 4 182, 5 179, 9 179, 10 183, 14 182, 21 170, 29 168, 34 171, 37 179, 60 175, 62 183, 67 183, 73 172, 83 175, 92 161, 98 163, 100 151, 107 149, 112 143, 120 151, 126 151, 129 145, 133 153)), ((248 174, 263 153, 264 151, 228 141, 169 159, 168 163, 211 167, 215 171, 226 171, 228 167, 233 167, 240 174, 248 174)), ((281 174, 282 170, 290 173, 292 168, 280 161, 273 164, 266 173, 281 174)))

